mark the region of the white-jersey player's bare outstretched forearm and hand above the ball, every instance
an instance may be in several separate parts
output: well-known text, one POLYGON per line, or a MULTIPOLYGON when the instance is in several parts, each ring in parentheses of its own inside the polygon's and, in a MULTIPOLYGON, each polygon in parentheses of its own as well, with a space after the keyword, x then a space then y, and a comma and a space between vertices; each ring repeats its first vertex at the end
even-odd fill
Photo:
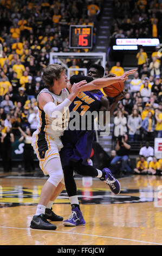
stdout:
POLYGON ((132 69, 125 72, 122 76, 95 79, 94 81, 83 85, 82 92, 86 92, 87 90, 98 90, 103 87, 108 87, 116 82, 125 82, 128 79, 128 76, 134 74, 136 71, 137 69, 132 69))

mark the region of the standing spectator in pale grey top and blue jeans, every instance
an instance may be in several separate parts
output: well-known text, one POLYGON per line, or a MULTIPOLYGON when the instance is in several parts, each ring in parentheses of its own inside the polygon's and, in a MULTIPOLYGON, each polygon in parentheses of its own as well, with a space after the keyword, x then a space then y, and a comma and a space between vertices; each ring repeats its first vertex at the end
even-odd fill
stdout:
POLYGON ((141 117, 137 109, 134 109, 132 114, 128 117, 127 127, 129 129, 128 134, 131 142, 138 141, 141 128, 141 117))

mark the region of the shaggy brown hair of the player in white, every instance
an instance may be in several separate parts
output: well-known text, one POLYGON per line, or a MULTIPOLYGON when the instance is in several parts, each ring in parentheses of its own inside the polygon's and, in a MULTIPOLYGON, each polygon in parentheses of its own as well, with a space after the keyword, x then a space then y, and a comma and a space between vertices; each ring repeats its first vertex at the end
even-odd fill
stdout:
POLYGON ((64 68, 62 68, 59 64, 50 64, 48 65, 42 75, 42 80, 45 83, 46 87, 52 87, 54 84, 54 79, 58 80, 61 76, 61 73, 64 71, 64 68))

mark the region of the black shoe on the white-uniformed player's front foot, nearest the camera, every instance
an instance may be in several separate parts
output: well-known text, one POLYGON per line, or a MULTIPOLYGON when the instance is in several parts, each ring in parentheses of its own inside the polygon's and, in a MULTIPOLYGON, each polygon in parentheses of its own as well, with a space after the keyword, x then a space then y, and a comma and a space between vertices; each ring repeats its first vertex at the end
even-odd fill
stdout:
POLYGON ((47 221, 45 214, 40 214, 38 216, 33 216, 33 220, 30 223, 30 228, 53 230, 57 227, 56 225, 53 225, 49 221, 47 221))

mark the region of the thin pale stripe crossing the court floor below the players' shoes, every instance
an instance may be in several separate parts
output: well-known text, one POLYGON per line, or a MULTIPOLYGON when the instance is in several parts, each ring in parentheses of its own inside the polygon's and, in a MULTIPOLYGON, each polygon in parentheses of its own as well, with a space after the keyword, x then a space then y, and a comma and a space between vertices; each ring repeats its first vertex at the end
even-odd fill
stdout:
POLYGON ((133 242, 141 242, 141 243, 152 243, 153 245, 162 245, 162 243, 154 243, 154 242, 147 242, 147 241, 140 241, 140 240, 126 239, 126 238, 121 238, 121 237, 102 236, 102 235, 90 235, 90 234, 82 234, 82 233, 74 233, 74 232, 66 232, 66 231, 42 230, 42 229, 31 229, 31 228, 15 228, 15 227, 0 227, 0 228, 12 228, 12 229, 24 229, 24 230, 36 230, 36 231, 46 231, 46 232, 63 233, 63 234, 72 234, 72 235, 87 235, 87 236, 104 237, 104 238, 118 239, 118 240, 126 240, 126 241, 133 241, 133 242))

